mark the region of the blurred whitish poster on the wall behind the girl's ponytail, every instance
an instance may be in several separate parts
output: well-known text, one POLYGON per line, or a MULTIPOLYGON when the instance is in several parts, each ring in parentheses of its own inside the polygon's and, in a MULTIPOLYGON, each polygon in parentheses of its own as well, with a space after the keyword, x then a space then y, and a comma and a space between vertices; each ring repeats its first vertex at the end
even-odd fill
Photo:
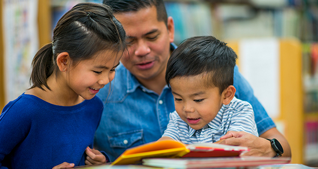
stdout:
POLYGON ((3 0, 5 104, 30 87, 31 62, 39 49, 38 0, 3 0))

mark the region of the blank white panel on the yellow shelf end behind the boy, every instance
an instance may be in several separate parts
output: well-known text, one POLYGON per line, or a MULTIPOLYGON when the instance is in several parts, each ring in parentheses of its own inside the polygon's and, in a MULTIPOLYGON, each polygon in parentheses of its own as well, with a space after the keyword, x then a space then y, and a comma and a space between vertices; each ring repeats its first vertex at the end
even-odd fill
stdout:
POLYGON ((279 41, 244 39, 239 43, 240 73, 271 118, 280 115, 279 41))

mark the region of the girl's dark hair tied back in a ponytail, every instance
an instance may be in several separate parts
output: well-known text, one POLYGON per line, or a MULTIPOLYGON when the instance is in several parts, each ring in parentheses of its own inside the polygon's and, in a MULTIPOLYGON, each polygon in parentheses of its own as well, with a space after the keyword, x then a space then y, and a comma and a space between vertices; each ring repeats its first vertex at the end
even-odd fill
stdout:
POLYGON ((58 54, 68 52, 72 63, 90 59, 102 50, 124 52, 126 32, 113 16, 112 9, 100 3, 84 2, 75 5, 58 21, 52 43, 43 46, 34 56, 30 88, 43 85, 50 89, 47 78, 58 76, 58 54))

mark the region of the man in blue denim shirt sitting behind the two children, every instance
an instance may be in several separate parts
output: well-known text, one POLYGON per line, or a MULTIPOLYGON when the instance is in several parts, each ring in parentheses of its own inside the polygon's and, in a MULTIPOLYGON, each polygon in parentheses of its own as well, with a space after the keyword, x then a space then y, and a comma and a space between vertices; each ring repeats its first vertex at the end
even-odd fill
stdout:
MULTIPOLYGON (((167 17, 162 0, 104 0, 115 10, 131 46, 121 58, 115 79, 98 92, 106 103, 95 134, 94 146, 115 160, 126 149, 157 141, 174 111, 171 89, 165 84, 165 69, 175 49, 174 24, 167 17)), ((270 141, 276 138, 291 157, 287 140, 253 95, 246 80, 235 68, 235 96, 251 103, 260 137, 245 132, 229 132, 222 144, 246 146, 246 156, 274 157, 270 141)))

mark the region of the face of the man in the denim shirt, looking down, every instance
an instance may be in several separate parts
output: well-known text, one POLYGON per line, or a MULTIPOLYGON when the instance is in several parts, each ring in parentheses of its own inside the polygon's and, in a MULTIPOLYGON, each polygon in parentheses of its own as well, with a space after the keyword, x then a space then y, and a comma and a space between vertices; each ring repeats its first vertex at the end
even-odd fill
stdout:
POLYGON ((167 26, 157 19, 155 6, 139 11, 116 14, 123 24, 131 46, 121 62, 139 81, 163 77, 170 56, 170 43, 174 38, 171 17, 167 26))

